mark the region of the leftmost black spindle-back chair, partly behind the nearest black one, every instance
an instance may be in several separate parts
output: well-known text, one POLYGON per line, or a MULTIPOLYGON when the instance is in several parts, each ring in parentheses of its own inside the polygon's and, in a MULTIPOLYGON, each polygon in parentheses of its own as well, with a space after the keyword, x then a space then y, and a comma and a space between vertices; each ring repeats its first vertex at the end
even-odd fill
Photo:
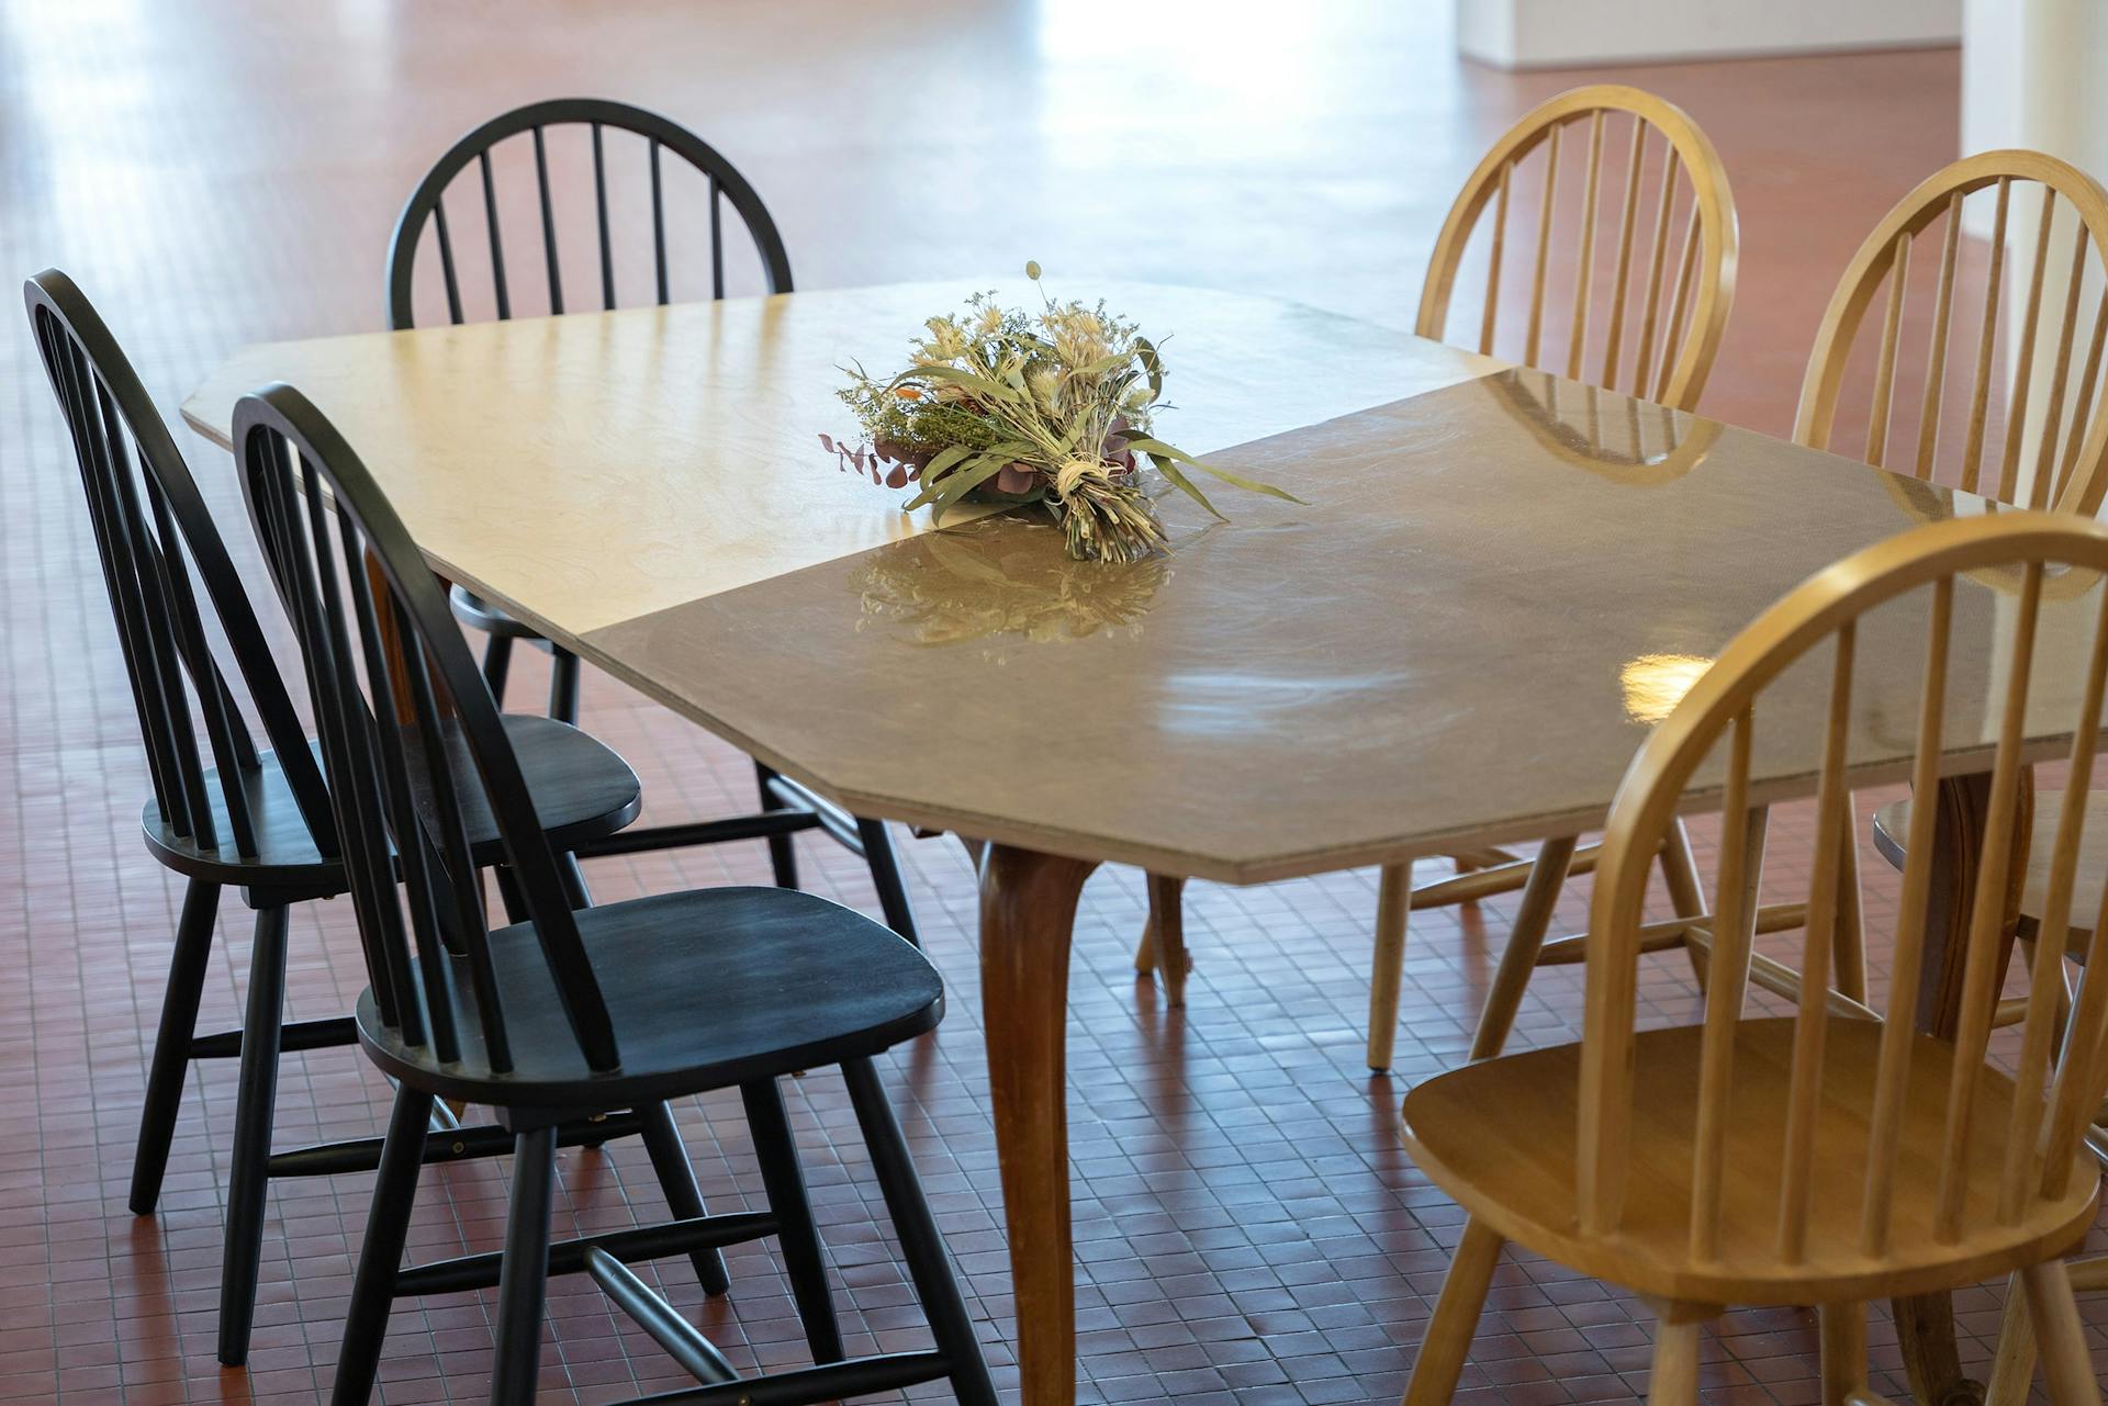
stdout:
MULTIPOLYGON (((148 1067, 129 1204, 145 1216, 160 1202, 190 1062, 238 1058, 219 1290, 219 1358, 236 1366, 249 1351, 270 1178, 371 1170, 382 1151, 377 1138, 356 1138, 272 1153, 278 1056, 356 1039, 350 1016, 287 1022, 282 1014, 289 904, 346 892, 339 828, 323 767, 240 573, 124 350, 59 270, 30 278, 23 301, 72 436, 139 715, 152 780, 141 831, 148 850, 188 881, 148 1067), (215 658, 207 611, 249 694, 255 729, 215 658), (255 744, 257 731, 264 748, 255 744), (223 887, 238 890, 257 915, 247 1012, 238 1031, 198 1035, 223 887)), ((550 719, 510 719, 508 731, 529 757, 538 824, 561 839, 565 860, 578 839, 620 831, 637 816, 637 776, 592 738, 550 719)), ((479 862, 497 858, 481 818, 470 847, 479 862)), ((390 856, 379 852, 379 858, 386 864, 390 856)), ((464 881, 455 902, 476 892, 472 879, 464 881)), ((487 1155, 510 1147, 497 1132, 453 1128, 449 1145, 434 1155, 487 1155)), ((582 1124, 567 1136, 605 1140, 626 1132, 645 1134, 668 1199, 700 1214, 702 1199, 664 1107, 582 1124)), ((723 1292, 723 1265, 715 1254, 698 1269, 706 1288, 723 1292)))

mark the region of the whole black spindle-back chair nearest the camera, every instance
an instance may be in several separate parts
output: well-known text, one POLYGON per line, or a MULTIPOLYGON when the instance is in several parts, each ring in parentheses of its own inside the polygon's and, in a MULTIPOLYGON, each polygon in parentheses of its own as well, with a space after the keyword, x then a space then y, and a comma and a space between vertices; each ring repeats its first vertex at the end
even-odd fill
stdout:
POLYGON ((586 1271, 702 1387, 653 1400, 833 1402, 951 1379, 970 1406, 995 1393, 942 1242, 871 1056, 930 1031, 942 982, 909 942, 782 887, 698 890, 573 911, 519 761, 438 582, 335 428, 291 386, 234 413, 251 516, 301 641, 371 989, 360 1039, 398 1083, 337 1364, 335 1404, 358 1406, 396 1296, 497 1286, 500 1406, 533 1400, 548 1273, 586 1271), (377 571, 358 569, 371 561, 377 571), (394 710, 409 723, 392 725, 394 710), (449 767, 449 717, 481 780, 525 921, 489 930, 449 767), (401 852, 401 883, 386 862, 401 852), (841 972, 856 972, 847 982, 841 972), (843 1360, 790 1143, 780 1075, 841 1065, 900 1231, 934 1351, 843 1360), (767 1183, 765 1214, 550 1246, 557 1119, 632 1098, 738 1086, 767 1183), (516 1132, 506 1248, 403 1269, 434 1096, 500 1109, 516 1132), (816 1366, 740 1381, 729 1362, 622 1261, 778 1235, 816 1366))

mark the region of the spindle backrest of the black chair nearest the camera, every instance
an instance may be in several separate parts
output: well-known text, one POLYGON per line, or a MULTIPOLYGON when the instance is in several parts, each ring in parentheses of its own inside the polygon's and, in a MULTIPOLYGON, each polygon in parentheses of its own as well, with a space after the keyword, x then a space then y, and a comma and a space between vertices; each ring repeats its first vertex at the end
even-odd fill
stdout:
POLYGON ((417 544, 344 436, 291 386, 234 407, 234 445, 299 637, 382 1020, 407 1046, 455 1060, 464 1005, 476 1014, 481 1058, 493 1071, 514 1067, 449 763, 449 753, 466 753, 580 1052, 597 1071, 620 1067, 512 742, 417 544), (468 991, 455 989, 457 963, 468 991))

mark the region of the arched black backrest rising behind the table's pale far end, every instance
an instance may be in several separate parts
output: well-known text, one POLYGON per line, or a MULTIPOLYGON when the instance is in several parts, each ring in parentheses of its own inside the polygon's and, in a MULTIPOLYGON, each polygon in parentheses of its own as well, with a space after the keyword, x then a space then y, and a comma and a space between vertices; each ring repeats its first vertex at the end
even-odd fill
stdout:
MULTIPOLYGON (((755 253, 761 257, 761 274, 767 282, 767 291, 790 291, 790 257, 784 253, 784 242, 776 232, 776 221, 769 219, 769 211, 761 204, 761 196, 755 194, 755 188, 746 183, 746 177, 742 177, 731 162, 717 152, 717 148, 708 145, 702 137, 687 131, 679 122, 670 122, 668 118, 662 118, 656 112, 645 112, 643 108, 630 108, 628 103, 613 103, 594 97, 559 97, 544 103, 514 108, 512 112, 495 116, 474 129, 455 141, 417 183, 417 190, 411 192, 409 202, 403 207, 403 215, 396 219, 394 240, 388 247, 390 329, 401 331, 417 325, 413 293, 417 249, 424 242, 426 223, 432 226, 441 278, 447 289, 447 316, 453 323, 468 320, 462 306, 462 276, 455 268, 455 238, 447 226, 445 196, 447 188, 453 185, 455 177, 468 171, 470 164, 476 167, 476 183, 483 196, 483 232, 489 251, 493 308, 500 318, 512 316, 514 289, 506 280, 506 247, 500 219, 502 200, 497 192, 497 175, 491 164, 491 150, 497 148, 497 143, 521 135, 527 135, 533 141, 542 268, 548 293, 548 301, 542 310, 552 314, 565 310, 563 263, 557 249, 559 202, 550 185, 548 129, 552 126, 584 126, 590 133, 594 230, 599 236, 599 291, 603 310, 622 306, 616 293, 616 232, 609 228, 609 131, 643 137, 645 152, 641 152, 641 156, 645 158, 645 171, 651 185, 651 268, 656 274, 653 301, 666 304, 672 295, 666 255, 668 192, 660 152, 672 152, 708 181, 710 297, 725 295, 723 207, 727 200, 731 202, 734 213, 746 223, 748 236, 753 236, 755 253)), ((691 247, 694 238, 683 238, 681 245, 691 247)))

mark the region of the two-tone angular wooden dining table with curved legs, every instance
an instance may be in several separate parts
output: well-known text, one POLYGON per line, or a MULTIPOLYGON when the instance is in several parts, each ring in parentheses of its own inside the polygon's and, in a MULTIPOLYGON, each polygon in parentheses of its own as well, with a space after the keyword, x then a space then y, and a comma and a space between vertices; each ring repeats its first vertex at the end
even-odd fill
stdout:
MULTIPOLYGON (((299 386, 438 573, 858 816, 984 843, 1022 1393, 1067 1406, 1069 942, 1096 866, 1263 883, 1596 828, 1646 729, 1771 601, 1986 506, 1379 323, 1102 282, 1164 344, 1159 434, 1305 502, 1221 489, 1221 523, 1172 493, 1170 554, 1073 563, 1033 512, 940 527, 820 443, 854 436, 841 367, 900 363, 999 282, 251 346, 183 413, 226 445, 242 392, 299 386)), ((1958 597, 1956 679, 1988 679, 2005 616, 1990 586, 1958 597)), ((1861 653, 1853 780, 1901 780, 1916 670, 1861 653)), ((1916 999, 1935 1031, 1988 765, 1958 696, 1916 999)), ((1811 790, 1821 698, 1783 689, 1756 799, 1811 790)), ((1718 805, 1712 772, 1686 805, 1718 805)), ((1960 1389, 1941 1305, 1899 1305, 1920 1400, 1960 1389)))

